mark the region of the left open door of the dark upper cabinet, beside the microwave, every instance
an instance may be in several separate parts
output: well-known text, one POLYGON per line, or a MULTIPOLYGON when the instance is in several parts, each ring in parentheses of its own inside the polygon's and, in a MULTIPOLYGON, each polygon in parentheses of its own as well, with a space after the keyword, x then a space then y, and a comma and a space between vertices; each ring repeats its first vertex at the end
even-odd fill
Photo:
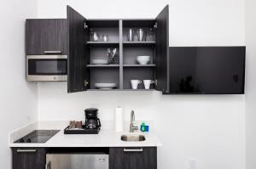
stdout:
POLYGON ((90 76, 86 70, 89 50, 89 31, 85 28, 86 19, 67 6, 68 54, 67 54, 67 93, 81 92, 90 87, 90 76))

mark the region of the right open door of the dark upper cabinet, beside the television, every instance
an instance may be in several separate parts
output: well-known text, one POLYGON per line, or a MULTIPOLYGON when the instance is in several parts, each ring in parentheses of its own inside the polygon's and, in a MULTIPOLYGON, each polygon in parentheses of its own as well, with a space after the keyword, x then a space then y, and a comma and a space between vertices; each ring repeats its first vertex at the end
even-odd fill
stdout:
POLYGON ((155 30, 155 80, 156 90, 169 92, 169 6, 156 17, 155 30))

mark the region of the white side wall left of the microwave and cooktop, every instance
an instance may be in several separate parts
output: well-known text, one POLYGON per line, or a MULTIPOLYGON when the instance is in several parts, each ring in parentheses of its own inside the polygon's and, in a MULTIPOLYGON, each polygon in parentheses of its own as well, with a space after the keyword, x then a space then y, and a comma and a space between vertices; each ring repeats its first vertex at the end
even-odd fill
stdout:
POLYGON ((34 0, 0 1, 0 166, 11 168, 8 132, 37 121, 38 87, 25 78, 25 19, 36 17, 34 0))

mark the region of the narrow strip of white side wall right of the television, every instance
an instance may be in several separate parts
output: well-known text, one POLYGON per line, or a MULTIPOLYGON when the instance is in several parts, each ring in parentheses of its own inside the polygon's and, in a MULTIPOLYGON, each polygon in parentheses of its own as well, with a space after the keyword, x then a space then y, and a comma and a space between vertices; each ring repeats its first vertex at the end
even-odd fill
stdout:
POLYGON ((254 169, 256 167, 256 2, 254 0, 245 0, 245 4, 245 35, 247 45, 247 169, 254 169))

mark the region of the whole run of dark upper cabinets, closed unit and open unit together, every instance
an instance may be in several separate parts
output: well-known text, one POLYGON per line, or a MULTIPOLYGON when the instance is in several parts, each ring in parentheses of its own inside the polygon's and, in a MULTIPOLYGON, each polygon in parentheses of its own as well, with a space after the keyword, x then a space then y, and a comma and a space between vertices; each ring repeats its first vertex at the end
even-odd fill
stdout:
MULTIPOLYGON (((151 90, 169 92, 169 7, 154 19, 89 20, 67 6, 67 19, 26 20, 26 54, 67 55, 67 92, 101 91, 96 83, 113 83, 109 90, 132 90, 131 80, 142 83, 138 91, 147 91, 143 80, 151 80, 151 90), (143 30, 143 40, 128 31, 143 30), (96 32, 98 41, 92 40, 96 32), (108 41, 103 42, 102 36, 108 41), (151 38, 152 37, 152 38, 151 38), (116 49, 113 63, 95 65, 94 60, 108 60, 108 51, 116 49), (148 65, 137 64, 137 56, 150 56, 148 65)), ((104 89, 106 90, 106 88, 104 89)))

